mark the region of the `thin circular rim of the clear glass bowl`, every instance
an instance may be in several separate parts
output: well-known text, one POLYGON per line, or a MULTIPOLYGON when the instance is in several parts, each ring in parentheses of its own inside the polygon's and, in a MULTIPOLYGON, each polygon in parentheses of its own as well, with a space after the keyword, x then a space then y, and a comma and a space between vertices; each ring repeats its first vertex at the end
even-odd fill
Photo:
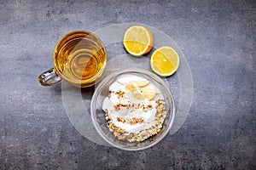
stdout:
POLYGON ((151 71, 146 71, 146 70, 143 70, 143 69, 138 69, 138 68, 130 68, 130 69, 125 69, 125 70, 121 70, 121 71, 114 71, 113 73, 111 73, 110 75, 108 75, 108 77, 105 77, 102 82, 100 82, 96 89, 95 89, 95 92, 90 100, 90 116, 91 116, 91 119, 92 119, 92 122, 93 122, 93 125, 94 127, 96 128, 96 131, 97 133, 102 137, 102 139, 104 139, 108 144, 110 144, 111 146, 115 147, 115 148, 119 148, 120 150, 128 150, 128 151, 135 151, 135 150, 145 150, 145 149, 148 149, 152 146, 154 146, 155 144, 158 144, 162 139, 164 139, 166 137, 166 134, 169 133, 172 125, 173 125, 173 122, 174 122, 174 118, 175 118, 175 112, 176 112, 176 108, 175 108, 175 105, 174 105, 174 99, 173 99, 173 95, 172 95, 172 92, 170 90, 170 88, 166 85, 166 82, 163 81, 162 78, 158 77, 157 75, 155 75, 153 72, 151 71), (168 95, 170 95, 171 97, 171 103, 172 103, 172 111, 170 114, 172 114, 170 116, 170 123, 169 123, 169 127, 167 129, 165 129, 165 132, 163 132, 163 134, 160 136, 159 139, 156 139, 152 144, 148 144, 146 146, 142 146, 142 147, 138 147, 138 148, 129 148, 129 147, 122 147, 122 146, 119 146, 117 144, 114 144, 113 142, 111 142, 110 140, 108 140, 107 137, 105 137, 105 135, 103 135, 102 133, 102 130, 100 129, 100 127, 97 126, 97 121, 96 121, 96 114, 94 114, 94 111, 93 111, 93 108, 94 105, 96 105, 96 97, 98 96, 97 94, 99 93, 99 90, 108 82, 110 81, 111 79, 113 79, 114 77, 118 77, 119 75, 122 75, 124 73, 143 73, 144 75, 150 77, 150 78, 154 78, 157 82, 160 82, 160 84, 166 88, 166 91, 168 93, 168 95))

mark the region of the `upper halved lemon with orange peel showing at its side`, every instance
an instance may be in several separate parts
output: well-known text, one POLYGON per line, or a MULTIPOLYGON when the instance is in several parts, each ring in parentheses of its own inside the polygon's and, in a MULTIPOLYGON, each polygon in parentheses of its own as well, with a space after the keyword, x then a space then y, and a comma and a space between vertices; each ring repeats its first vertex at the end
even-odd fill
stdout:
POLYGON ((125 31, 123 43, 128 53, 142 56, 152 49, 154 37, 146 26, 131 26, 125 31))

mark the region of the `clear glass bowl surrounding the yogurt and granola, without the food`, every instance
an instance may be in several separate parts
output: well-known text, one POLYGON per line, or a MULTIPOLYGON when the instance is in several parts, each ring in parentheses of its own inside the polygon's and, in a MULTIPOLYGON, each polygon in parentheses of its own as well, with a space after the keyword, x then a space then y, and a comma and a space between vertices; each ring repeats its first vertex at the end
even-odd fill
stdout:
POLYGON ((162 140, 166 134, 168 134, 174 121, 175 106, 170 89, 160 77, 156 76, 150 71, 144 71, 141 69, 128 69, 124 71, 115 71, 98 84, 91 99, 90 114, 92 117, 92 122, 96 127, 96 131, 101 135, 102 139, 108 142, 108 144, 111 144, 112 146, 121 150, 144 150, 154 146, 154 144, 159 143, 160 140, 162 140), (124 77, 127 74, 143 77, 149 82, 153 82, 154 85, 160 89, 165 99, 167 115, 163 122, 162 128, 160 129, 160 132, 142 142, 129 142, 115 137, 113 132, 109 131, 105 118, 105 112, 102 110, 102 103, 103 100, 108 96, 109 86, 113 82, 117 81, 120 77, 124 77))

